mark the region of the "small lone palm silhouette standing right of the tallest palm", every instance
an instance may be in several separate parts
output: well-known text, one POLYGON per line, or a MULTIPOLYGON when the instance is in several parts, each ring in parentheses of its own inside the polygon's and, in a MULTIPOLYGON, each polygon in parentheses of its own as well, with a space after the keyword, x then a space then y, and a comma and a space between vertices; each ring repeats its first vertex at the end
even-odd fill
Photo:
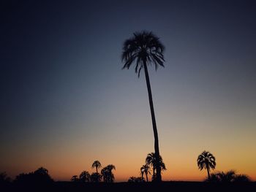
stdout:
POLYGON ((204 150, 197 158, 197 166, 200 171, 207 169, 208 180, 210 180, 210 169, 215 169, 216 166, 214 155, 204 150))

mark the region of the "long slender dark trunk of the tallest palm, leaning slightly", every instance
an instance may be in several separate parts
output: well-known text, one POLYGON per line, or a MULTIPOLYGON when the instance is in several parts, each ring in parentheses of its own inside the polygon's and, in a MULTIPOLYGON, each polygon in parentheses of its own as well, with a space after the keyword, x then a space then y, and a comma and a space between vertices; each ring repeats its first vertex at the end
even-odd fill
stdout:
POLYGON ((157 134, 157 123, 156 123, 156 118, 154 116, 154 106, 153 106, 153 99, 152 99, 152 93, 151 93, 151 86, 150 86, 150 81, 149 81, 149 76, 148 76, 148 68, 146 66, 146 60, 144 59, 143 61, 143 67, 145 70, 145 77, 146 77, 146 83, 147 83, 147 88, 148 88, 148 100, 149 100, 149 106, 151 110, 151 119, 152 119, 152 126, 153 126, 153 131, 154 131, 154 154, 156 155, 156 169, 157 169, 157 177, 156 181, 161 182, 161 168, 159 164, 159 143, 158 143, 158 134, 157 134))

